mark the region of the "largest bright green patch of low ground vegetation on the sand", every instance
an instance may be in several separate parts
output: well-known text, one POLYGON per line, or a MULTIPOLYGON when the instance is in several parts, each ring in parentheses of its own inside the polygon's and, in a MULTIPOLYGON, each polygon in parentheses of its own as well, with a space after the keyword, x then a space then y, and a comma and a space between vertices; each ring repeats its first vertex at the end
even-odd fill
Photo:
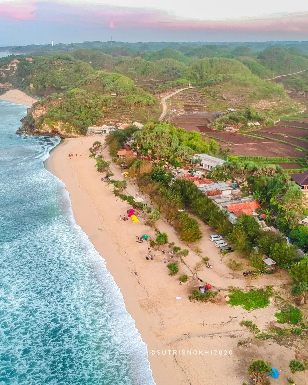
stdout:
POLYGON ((244 292, 238 289, 231 289, 229 294, 229 303, 231 306, 242 306, 246 310, 266 308, 269 305, 269 290, 249 290, 244 292))

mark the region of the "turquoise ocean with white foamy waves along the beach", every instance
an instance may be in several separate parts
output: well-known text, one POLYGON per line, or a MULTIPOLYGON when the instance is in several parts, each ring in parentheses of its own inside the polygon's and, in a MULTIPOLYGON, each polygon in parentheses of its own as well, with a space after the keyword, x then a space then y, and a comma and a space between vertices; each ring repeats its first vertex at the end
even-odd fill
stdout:
POLYGON ((56 137, 16 135, 0 101, 0 384, 153 385, 121 292, 44 168, 56 137))

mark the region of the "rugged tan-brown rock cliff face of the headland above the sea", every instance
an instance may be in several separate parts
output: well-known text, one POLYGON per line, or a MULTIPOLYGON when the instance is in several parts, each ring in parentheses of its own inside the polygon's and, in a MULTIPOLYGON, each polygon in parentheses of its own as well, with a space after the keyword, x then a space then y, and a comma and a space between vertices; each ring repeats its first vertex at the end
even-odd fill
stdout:
POLYGON ((41 116, 47 113, 48 105, 35 104, 27 109, 27 115, 21 119, 22 127, 16 134, 59 136, 61 138, 74 138, 82 136, 73 127, 64 124, 62 121, 51 121, 41 116))

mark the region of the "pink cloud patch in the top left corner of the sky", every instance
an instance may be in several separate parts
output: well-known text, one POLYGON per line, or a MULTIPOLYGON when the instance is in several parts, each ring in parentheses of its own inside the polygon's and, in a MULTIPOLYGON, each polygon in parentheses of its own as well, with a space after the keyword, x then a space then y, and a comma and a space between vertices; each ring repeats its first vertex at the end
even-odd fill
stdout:
POLYGON ((36 20, 35 3, 1 3, 0 17, 10 20, 36 20))

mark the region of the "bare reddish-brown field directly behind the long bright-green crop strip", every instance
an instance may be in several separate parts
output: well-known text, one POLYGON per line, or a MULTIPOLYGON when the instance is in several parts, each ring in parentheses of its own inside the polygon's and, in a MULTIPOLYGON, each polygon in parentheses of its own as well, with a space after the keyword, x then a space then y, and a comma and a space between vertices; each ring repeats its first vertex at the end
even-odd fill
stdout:
MULTIPOLYGON (((223 149, 228 148, 223 147, 223 149)), ((229 146, 231 153, 238 156, 262 156, 265 158, 271 157, 303 157, 304 152, 297 150, 295 147, 288 144, 271 142, 263 139, 263 142, 259 143, 245 143, 243 146, 229 146)))

